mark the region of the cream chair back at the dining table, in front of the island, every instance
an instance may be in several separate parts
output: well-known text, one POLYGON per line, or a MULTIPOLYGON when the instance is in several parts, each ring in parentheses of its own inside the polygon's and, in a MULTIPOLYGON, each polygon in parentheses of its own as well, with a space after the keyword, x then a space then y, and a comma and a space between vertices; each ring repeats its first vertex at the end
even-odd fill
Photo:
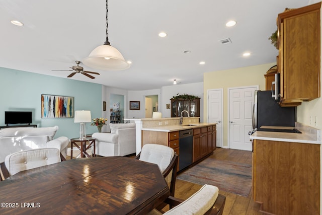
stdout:
POLYGON ((175 151, 167 146, 158 144, 145 144, 140 153, 140 161, 157 164, 163 173, 175 156, 175 151))

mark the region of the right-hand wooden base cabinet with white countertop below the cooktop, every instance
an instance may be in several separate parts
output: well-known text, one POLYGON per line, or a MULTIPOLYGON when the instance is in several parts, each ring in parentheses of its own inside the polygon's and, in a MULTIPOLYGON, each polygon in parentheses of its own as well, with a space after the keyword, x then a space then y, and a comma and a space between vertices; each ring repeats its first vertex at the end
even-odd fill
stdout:
POLYGON ((263 212, 320 214, 320 130, 299 123, 296 129, 302 133, 256 131, 250 137, 253 197, 263 212))

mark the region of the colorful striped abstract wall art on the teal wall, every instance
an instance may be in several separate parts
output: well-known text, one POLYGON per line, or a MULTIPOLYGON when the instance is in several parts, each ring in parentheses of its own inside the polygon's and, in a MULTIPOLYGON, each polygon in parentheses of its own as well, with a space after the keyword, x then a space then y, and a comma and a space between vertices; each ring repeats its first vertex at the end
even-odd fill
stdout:
POLYGON ((74 97, 41 94, 41 118, 74 117, 74 97))

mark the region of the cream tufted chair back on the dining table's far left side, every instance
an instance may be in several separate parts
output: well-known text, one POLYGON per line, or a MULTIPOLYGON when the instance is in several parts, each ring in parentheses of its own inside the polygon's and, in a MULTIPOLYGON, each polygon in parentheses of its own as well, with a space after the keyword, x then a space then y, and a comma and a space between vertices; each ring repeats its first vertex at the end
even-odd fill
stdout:
POLYGON ((12 176, 18 172, 60 162, 60 152, 56 148, 42 148, 16 152, 6 156, 5 165, 12 176))

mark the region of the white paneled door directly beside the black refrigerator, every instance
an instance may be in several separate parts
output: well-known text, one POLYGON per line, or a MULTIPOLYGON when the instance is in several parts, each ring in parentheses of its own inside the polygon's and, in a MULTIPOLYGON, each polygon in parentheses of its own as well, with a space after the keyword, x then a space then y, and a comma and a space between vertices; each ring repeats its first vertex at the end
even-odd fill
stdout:
POLYGON ((258 87, 229 89, 229 146, 230 149, 252 151, 249 131, 252 130, 252 108, 258 87))

